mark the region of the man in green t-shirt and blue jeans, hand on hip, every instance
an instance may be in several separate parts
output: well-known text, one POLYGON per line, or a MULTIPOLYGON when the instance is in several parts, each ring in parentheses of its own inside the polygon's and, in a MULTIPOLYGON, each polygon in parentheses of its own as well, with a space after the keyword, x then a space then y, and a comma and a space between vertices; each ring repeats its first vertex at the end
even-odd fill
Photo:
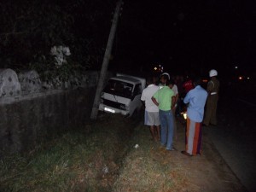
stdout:
POLYGON ((173 90, 169 86, 170 81, 166 80, 166 84, 154 93, 152 101, 160 109, 160 143, 166 146, 166 150, 176 150, 172 146, 173 137, 173 114, 175 95, 173 90))

